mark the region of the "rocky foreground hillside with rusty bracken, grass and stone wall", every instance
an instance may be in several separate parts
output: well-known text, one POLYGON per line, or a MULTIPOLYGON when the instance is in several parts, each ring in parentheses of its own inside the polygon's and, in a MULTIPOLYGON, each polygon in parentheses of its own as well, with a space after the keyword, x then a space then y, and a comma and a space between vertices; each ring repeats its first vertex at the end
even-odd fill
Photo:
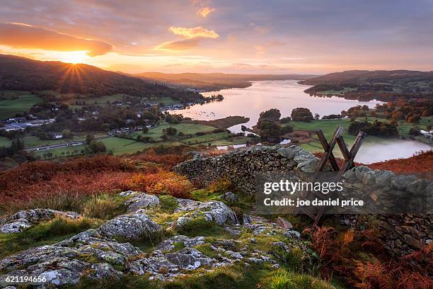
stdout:
MULTIPOLYGON (((295 146, 191 157, 149 150, 1 172, 0 282, 40 276, 48 288, 432 288, 431 215, 325 215, 319 227, 284 211, 263 215, 255 174, 282 169, 306 177, 318 159, 295 146)), ((379 204, 396 200, 386 195, 391 184, 411 198, 433 185, 366 166, 344 178, 344 188, 379 204)))

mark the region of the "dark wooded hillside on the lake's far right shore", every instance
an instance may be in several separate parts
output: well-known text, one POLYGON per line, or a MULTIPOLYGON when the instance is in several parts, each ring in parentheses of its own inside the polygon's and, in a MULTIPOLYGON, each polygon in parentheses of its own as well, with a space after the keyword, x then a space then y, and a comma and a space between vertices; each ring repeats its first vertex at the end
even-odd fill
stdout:
POLYGON ((433 97, 433 72, 409 70, 351 70, 299 81, 313 85, 307 94, 335 95, 369 101, 408 100, 433 97))

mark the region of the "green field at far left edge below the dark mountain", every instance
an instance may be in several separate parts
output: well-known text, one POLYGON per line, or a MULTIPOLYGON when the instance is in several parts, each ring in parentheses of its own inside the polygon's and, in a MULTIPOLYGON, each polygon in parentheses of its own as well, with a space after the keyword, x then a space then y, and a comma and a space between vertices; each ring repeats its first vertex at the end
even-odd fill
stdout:
POLYGON ((29 111, 30 108, 39 103, 38 96, 28 91, 3 91, 0 98, 0 119, 11 118, 17 113, 29 111))

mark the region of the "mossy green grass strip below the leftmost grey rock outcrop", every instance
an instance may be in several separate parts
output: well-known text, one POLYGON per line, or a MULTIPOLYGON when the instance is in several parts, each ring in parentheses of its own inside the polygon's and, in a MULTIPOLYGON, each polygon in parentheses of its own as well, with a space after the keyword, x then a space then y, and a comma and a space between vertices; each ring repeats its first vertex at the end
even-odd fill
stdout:
POLYGON ((56 217, 49 222, 42 222, 35 227, 24 229, 20 233, 0 234, 0 257, 3 258, 35 246, 54 244, 99 225, 100 221, 88 218, 70 220, 56 217))

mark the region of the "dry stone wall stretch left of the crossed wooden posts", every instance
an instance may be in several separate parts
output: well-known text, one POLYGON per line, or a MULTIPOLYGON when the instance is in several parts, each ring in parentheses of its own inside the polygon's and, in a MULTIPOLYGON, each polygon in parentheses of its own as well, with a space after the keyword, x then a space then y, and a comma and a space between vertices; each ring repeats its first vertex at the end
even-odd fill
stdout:
POLYGON ((203 183, 227 176, 238 189, 254 193, 254 176, 260 172, 301 171, 311 173, 318 159, 300 147, 253 147, 217 157, 196 157, 173 171, 203 183))

